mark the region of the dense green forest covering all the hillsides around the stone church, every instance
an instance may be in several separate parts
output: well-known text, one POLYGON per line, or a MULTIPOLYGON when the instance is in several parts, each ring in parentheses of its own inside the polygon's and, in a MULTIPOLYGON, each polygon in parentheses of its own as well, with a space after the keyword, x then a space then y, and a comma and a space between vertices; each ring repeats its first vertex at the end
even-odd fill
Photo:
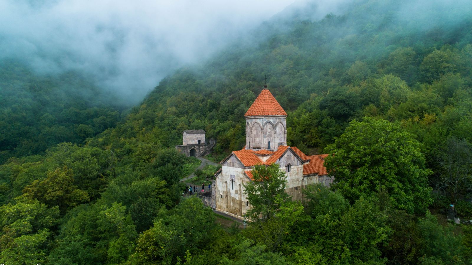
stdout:
POLYGON ((122 120, 82 78, 6 62, 0 262, 471 264, 471 226, 445 215, 455 204, 472 219, 472 5, 346 5, 320 20, 314 4, 288 8, 163 79, 122 120), (264 77, 288 144, 337 154, 326 161, 336 180, 308 187, 303 204, 277 184, 270 218, 224 228, 181 196, 192 161, 173 145, 204 129, 216 157, 243 148, 264 77))

